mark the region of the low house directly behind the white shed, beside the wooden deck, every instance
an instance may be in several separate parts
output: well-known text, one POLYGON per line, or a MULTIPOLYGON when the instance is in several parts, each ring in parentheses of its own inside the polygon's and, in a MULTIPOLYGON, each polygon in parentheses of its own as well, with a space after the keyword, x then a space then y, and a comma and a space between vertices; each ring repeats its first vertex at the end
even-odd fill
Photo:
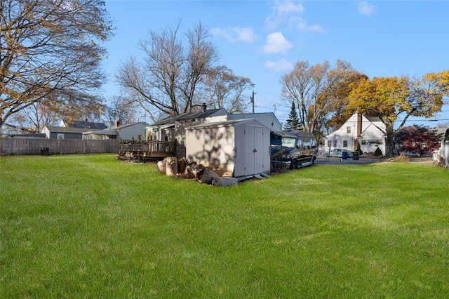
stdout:
POLYGON ((226 109, 206 109, 203 105, 201 111, 175 114, 161 121, 156 121, 147 127, 147 138, 159 141, 175 141, 176 157, 185 157, 185 128, 210 121, 226 120, 226 109))

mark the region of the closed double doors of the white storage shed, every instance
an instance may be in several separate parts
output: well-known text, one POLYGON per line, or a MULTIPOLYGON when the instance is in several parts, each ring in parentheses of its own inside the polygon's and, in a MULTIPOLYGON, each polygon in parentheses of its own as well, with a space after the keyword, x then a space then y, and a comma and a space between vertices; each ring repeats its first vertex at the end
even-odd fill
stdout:
POLYGON ((263 130, 260 126, 245 126, 245 175, 263 172, 263 130))

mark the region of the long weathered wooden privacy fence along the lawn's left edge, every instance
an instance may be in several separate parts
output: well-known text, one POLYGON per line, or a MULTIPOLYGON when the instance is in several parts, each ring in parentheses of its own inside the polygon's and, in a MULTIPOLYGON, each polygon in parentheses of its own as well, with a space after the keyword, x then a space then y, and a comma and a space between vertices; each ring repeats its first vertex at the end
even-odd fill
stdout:
POLYGON ((118 153, 119 140, 0 138, 0 154, 100 154, 118 153))

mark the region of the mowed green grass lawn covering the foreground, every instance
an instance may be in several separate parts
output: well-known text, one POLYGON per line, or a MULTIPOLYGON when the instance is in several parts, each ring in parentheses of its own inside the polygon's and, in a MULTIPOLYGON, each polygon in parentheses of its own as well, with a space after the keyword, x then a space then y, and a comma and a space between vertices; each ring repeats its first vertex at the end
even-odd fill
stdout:
POLYGON ((213 187, 114 155, 0 157, 0 298, 447 298, 449 172, 213 187))

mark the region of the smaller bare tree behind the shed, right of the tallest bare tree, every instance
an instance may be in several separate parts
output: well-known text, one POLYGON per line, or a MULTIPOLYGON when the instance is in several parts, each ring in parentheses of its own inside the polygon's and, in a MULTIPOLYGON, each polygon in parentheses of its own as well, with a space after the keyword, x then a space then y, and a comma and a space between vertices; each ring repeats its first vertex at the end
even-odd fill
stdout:
POLYGON ((203 102, 214 108, 225 108, 229 113, 243 113, 249 105, 244 95, 254 84, 249 78, 239 77, 225 65, 208 69, 203 84, 203 102))

